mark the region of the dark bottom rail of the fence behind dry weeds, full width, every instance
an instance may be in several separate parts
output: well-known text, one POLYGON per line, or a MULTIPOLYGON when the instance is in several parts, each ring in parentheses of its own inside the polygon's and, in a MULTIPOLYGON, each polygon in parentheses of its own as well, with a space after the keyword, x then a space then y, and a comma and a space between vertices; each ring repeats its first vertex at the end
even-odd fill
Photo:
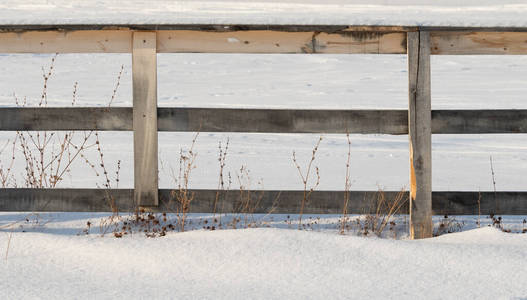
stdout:
MULTIPOLYGON (((160 189, 159 206, 148 207, 148 211, 176 212, 178 202, 174 192, 160 189)), ((189 190, 195 193, 190 205, 191 213, 212 213, 216 202, 217 213, 240 213, 239 190, 189 190)), ((113 205, 122 212, 134 211, 133 189, 0 189, 0 211, 72 211, 111 212, 113 205)), ((303 191, 243 191, 243 199, 251 194, 252 213, 299 213, 303 191)), ((383 192, 386 199, 394 199, 399 192, 383 192)), ((351 191, 348 213, 375 212, 375 199, 379 192, 351 191)), ((314 191, 304 207, 306 214, 341 214, 344 191, 314 191)), ((405 199, 408 193, 405 192, 405 199)), ((527 214, 527 192, 433 192, 432 209, 437 215, 525 215, 527 214), (479 205, 478 205, 479 199, 479 205)), ((408 211, 408 202, 401 212, 408 211)))

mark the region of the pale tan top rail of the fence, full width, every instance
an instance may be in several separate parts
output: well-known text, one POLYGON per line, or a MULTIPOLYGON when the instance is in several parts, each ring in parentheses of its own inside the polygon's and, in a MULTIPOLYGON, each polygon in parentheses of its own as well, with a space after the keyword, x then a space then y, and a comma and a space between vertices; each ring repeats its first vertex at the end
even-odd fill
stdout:
POLYGON ((527 28, 310 25, 0 25, 0 53, 131 53, 134 31, 157 53, 406 54, 429 32, 432 55, 527 54, 527 28))

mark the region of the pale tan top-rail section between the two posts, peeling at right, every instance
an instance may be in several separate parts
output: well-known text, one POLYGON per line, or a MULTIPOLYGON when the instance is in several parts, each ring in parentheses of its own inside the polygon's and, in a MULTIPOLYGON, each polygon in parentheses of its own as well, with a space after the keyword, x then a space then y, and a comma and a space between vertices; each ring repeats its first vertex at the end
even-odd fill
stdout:
POLYGON ((400 32, 158 31, 158 52, 405 54, 400 32))

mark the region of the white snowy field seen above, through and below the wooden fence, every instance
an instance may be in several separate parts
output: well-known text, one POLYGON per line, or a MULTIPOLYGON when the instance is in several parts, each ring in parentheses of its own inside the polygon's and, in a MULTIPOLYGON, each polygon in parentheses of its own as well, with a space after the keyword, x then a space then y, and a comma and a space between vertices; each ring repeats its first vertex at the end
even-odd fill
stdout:
MULTIPOLYGON (((519 0, 320 2, 4 0, 0 23, 527 26, 527 3, 519 0)), ((0 107, 15 106, 15 97, 36 105, 51 57, 0 54, 0 107)), ((160 54, 158 101, 161 107, 405 109, 406 63, 403 55, 160 54)), ((131 106, 131 56, 124 54, 59 55, 49 106, 70 106, 76 82, 77 106, 108 105, 121 66, 112 105, 131 106)), ((432 108, 527 109, 527 57, 433 56, 432 108)), ((0 132, 0 150, 14 136, 0 132)), ((244 165, 253 179, 246 188, 298 190, 292 151, 307 161, 319 136, 202 132, 191 188, 217 187, 218 143, 227 138, 225 173, 235 176, 244 165)), ((159 134, 161 188, 174 187, 170 169, 191 140, 191 133, 159 134)), ((497 190, 527 191, 527 135, 434 135, 432 142, 434 190, 492 190, 492 156, 497 190)), ((352 135, 351 143, 352 190, 408 185, 407 136, 352 135)), ((121 161, 119 187, 132 187, 132 133, 103 132, 101 144, 110 168, 121 161)), ((346 155, 344 135, 323 136, 320 190, 344 189, 346 155)), ((0 160, 9 157, 4 151, 0 160)), ((17 155, 17 182, 23 167, 17 155)), ((100 178, 78 162, 59 186, 97 184, 100 178)), ((435 216, 436 232, 445 222, 461 232, 418 241, 407 239, 405 215, 383 238, 361 233, 364 216, 352 216, 344 235, 340 216, 304 216, 305 230, 296 229, 295 215, 249 216, 250 226, 242 221, 236 230, 232 216, 231 223, 223 216, 221 228, 207 230, 221 223, 216 218, 191 215, 184 233, 115 238, 114 225, 104 225, 107 214, 1 212, 0 298, 527 299, 527 234, 489 226, 488 216, 435 216), (104 237, 101 228, 110 228, 104 237)), ((502 226, 521 232, 525 219, 503 216, 502 226)))

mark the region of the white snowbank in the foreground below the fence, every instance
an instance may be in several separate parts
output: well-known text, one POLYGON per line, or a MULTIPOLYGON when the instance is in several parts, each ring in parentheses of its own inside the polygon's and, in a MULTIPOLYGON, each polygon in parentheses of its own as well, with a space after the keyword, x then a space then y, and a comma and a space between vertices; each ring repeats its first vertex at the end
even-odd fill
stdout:
MULTIPOLYGON (((97 214, 0 232, 2 299, 523 299, 527 235, 427 240, 256 228, 101 237, 97 214)), ((322 216, 324 218, 324 216, 322 216)), ((327 217, 327 216, 326 216, 327 217)), ((23 218, 0 214, 0 225, 23 218)), ((46 221, 47 222, 47 221, 46 221)))

